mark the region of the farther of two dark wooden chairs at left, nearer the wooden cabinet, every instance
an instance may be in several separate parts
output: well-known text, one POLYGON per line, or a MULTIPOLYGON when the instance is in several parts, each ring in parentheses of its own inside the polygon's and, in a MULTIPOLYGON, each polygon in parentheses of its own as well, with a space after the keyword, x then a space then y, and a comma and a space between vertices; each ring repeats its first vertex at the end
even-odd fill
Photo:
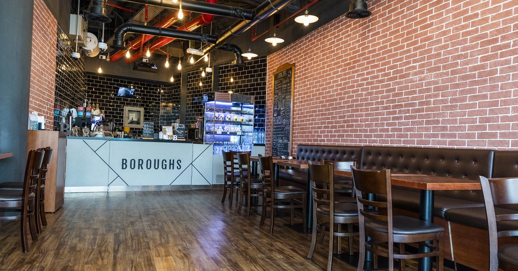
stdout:
MULTIPOLYGON (((36 193, 36 206, 35 206, 35 212, 36 212, 36 232, 38 234, 42 233, 41 226, 47 225, 47 218, 45 216, 45 182, 47 180, 47 172, 49 169, 47 168, 48 164, 50 163, 50 160, 52 158, 52 148, 46 147, 46 148, 39 148, 38 150, 41 150, 44 152, 43 162, 41 164, 41 170, 39 171, 39 189, 36 193)), ((0 189, 14 189, 14 190, 22 190, 23 189, 23 182, 5 182, 0 183, 0 189)))

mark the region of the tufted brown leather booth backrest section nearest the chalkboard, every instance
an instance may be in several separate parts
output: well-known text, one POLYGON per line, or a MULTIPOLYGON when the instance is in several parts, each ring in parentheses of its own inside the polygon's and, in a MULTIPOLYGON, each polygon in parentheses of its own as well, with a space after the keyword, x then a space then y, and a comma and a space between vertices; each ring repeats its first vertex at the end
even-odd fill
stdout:
POLYGON ((353 161, 362 158, 361 146, 297 145, 297 159, 318 161, 320 158, 333 161, 353 161))

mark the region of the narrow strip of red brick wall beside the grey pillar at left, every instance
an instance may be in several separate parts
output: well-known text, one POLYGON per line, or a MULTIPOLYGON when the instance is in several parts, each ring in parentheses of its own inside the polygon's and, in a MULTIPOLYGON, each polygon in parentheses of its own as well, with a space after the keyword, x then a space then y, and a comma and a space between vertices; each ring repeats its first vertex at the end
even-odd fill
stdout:
POLYGON ((57 21, 43 0, 34 1, 29 112, 45 115, 52 130, 56 82, 57 21))

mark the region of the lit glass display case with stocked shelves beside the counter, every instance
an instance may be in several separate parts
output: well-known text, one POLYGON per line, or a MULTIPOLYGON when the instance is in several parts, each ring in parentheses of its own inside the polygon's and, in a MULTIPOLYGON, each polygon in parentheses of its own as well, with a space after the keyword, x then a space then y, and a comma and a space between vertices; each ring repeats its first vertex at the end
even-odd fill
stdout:
MULTIPOLYGON (((233 95, 234 96, 234 95, 233 95)), ((248 96, 248 95, 239 95, 248 96)), ((232 101, 205 103, 204 143, 214 145, 214 155, 222 151, 248 152, 253 146, 253 96, 236 97, 232 101), (249 102, 243 102, 248 100, 249 102)))

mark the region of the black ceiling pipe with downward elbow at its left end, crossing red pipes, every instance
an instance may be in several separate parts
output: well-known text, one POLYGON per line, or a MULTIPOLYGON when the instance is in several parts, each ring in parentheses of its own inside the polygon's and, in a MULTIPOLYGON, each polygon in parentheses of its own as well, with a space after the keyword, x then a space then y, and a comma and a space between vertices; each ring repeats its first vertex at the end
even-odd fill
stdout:
POLYGON ((204 43, 215 43, 218 39, 218 36, 214 35, 199 34, 190 31, 181 31, 169 28, 125 23, 120 25, 116 29, 114 34, 115 38, 113 39, 113 44, 111 44, 111 48, 118 50, 126 50, 126 46, 124 44, 124 35, 126 33, 137 33, 176 39, 194 40, 204 43))

